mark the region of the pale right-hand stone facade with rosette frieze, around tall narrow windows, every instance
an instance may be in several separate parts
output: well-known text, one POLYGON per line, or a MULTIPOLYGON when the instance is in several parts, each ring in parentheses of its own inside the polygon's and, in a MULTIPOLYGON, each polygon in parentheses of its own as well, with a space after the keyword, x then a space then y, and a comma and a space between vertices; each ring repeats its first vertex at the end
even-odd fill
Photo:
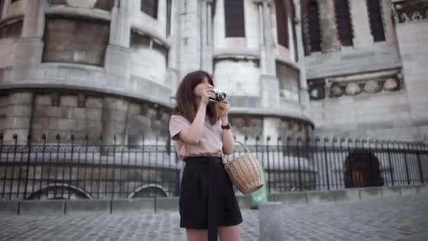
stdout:
MULTIPOLYGON (((321 35, 337 36, 334 20, 322 20, 334 15, 332 9, 322 12, 332 0, 317 2, 321 35)), ((305 58, 315 135, 427 142, 427 111, 421 106, 427 105, 422 92, 428 84, 419 64, 426 60, 426 3, 379 1, 385 39, 374 42, 367 1, 349 2, 353 46, 336 47, 324 37, 322 51, 305 58)))

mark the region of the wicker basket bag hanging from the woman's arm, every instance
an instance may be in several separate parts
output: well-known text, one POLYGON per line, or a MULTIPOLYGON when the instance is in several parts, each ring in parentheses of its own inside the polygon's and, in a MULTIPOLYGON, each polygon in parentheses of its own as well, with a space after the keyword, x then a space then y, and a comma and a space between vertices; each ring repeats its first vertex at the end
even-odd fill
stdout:
POLYGON ((243 194, 249 194, 263 187, 260 162, 242 142, 235 142, 244 147, 246 154, 232 161, 223 159, 223 163, 235 187, 243 194))

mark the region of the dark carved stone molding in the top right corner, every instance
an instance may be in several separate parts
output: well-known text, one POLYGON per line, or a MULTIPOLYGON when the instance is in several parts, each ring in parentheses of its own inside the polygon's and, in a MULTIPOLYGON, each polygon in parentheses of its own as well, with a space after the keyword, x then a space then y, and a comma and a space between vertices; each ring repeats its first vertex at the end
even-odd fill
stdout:
POLYGON ((428 0, 393 1, 395 23, 411 23, 428 18, 428 0))

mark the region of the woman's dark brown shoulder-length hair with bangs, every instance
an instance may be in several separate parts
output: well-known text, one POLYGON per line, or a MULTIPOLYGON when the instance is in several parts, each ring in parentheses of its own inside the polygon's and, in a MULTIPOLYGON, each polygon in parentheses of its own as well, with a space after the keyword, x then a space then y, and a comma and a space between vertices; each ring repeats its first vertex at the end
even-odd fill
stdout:
MULTIPOLYGON (((184 76, 175 94, 177 106, 175 106, 174 114, 184 116, 184 118, 187 118, 191 123, 193 123, 196 112, 198 111, 198 106, 196 106, 195 101, 196 97, 194 96, 194 88, 203 81, 204 76, 208 78, 208 83, 214 86, 213 77, 210 74, 203 70, 197 70, 184 76)), ((206 106, 206 116, 210 120, 211 125, 218 122, 219 116, 215 108, 215 103, 208 103, 206 106)))

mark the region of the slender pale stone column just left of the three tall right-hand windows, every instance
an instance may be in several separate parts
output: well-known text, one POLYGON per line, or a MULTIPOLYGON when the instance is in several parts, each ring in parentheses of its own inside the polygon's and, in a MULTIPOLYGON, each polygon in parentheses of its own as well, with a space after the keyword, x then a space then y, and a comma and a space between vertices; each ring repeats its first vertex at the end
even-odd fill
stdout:
POLYGON ((306 68, 305 68, 305 51, 303 47, 303 37, 300 34, 302 32, 302 21, 301 21, 301 0, 293 0, 294 12, 296 13, 296 19, 294 19, 294 27, 296 30, 296 48, 298 61, 297 65, 300 70, 300 104, 303 106, 304 113, 308 114, 309 111, 309 93, 308 93, 308 82, 306 82, 306 68))

